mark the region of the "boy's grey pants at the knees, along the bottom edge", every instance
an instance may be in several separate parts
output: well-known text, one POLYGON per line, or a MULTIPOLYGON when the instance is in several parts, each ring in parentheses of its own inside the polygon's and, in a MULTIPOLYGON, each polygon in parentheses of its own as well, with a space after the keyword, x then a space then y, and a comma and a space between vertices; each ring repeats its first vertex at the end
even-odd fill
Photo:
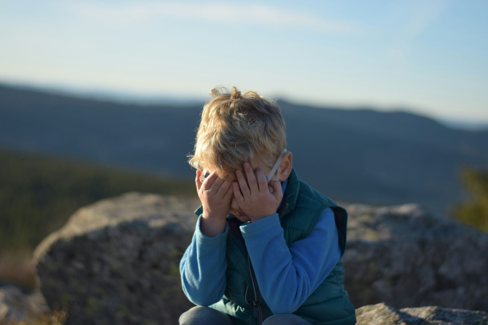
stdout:
MULTIPOLYGON (((181 314, 180 325, 235 325, 223 311, 207 307, 195 306, 181 314)), ((293 314, 277 314, 266 318, 263 325, 313 325, 305 319, 293 314)))

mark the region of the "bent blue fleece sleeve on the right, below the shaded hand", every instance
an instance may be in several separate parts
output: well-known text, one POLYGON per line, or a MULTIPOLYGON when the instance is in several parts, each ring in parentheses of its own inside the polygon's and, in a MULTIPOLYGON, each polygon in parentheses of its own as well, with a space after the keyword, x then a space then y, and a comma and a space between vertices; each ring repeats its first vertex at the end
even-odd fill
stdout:
POLYGON ((259 289, 273 314, 293 313, 341 257, 334 212, 324 210, 312 232, 286 246, 278 213, 240 226, 259 289))

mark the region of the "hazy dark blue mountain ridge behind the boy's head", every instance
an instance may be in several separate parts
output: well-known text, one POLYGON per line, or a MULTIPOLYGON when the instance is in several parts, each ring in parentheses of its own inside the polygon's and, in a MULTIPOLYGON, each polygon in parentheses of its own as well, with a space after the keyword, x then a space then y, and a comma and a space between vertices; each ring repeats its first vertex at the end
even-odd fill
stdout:
MULTIPOLYGON (((466 197, 458 168, 488 162, 488 131, 407 112, 313 108, 278 100, 298 176, 334 200, 420 203, 466 197)), ((0 86, 0 146, 194 179, 187 163, 201 105, 118 104, 0 86)))

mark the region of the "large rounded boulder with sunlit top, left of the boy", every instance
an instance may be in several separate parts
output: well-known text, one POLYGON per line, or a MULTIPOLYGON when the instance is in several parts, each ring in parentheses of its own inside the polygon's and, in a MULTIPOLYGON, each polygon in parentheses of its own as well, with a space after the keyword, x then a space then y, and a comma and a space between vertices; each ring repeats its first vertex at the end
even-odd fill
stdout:
POLYGON ((66 324, 172 324, 193 305, 179 262, 197 199, 128 192, 80 208, 36 248, 39 285, 66 324))

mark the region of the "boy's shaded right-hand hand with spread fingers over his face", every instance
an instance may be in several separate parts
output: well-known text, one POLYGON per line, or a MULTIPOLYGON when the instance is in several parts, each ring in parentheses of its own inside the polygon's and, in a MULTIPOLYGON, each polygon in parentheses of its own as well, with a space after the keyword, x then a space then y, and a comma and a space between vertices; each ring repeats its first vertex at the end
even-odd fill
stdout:
POLYGON ((261 168, 256 168, 258 179, 254 176, 251 165, 244 163, 244 171, 247 176, 245 182, 244 175, 241 171, 236 171, 237 180, 234 182, 234 195, 236 196, 239 207, 251 219, 251 222, 263 219, 268 215, 276 213, 281 199, 283 198, 283 190, 279 181, 270 180, 269 186, 273 188, 273 192, 268 190, 266 184, 266 176, 261 168), (242 191, 242 194, 241 194, 242 191))

